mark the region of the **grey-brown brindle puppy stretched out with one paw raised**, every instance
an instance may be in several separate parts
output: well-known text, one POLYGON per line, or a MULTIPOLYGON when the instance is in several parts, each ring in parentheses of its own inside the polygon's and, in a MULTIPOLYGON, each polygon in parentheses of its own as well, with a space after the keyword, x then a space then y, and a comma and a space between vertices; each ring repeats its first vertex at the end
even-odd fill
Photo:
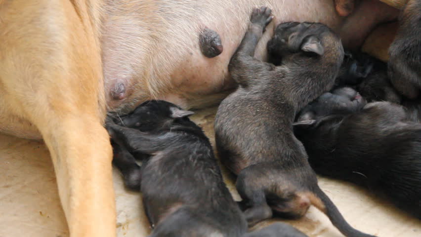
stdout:
POLYGON ((253 225, 272 211, 300 217, 313 204, 345 236, 368 236, 349 226, 319 188, 292 129, 295 113, 334 85, 344 54, 341 41, 323 24, 282 23, 267 44, 278 66, 264 63, 253 54, 270 20, 270 9, 253 10, 228 66, 239 87, 222 101, 214 124, 218 154, 238 175, 247 221, 253 225))

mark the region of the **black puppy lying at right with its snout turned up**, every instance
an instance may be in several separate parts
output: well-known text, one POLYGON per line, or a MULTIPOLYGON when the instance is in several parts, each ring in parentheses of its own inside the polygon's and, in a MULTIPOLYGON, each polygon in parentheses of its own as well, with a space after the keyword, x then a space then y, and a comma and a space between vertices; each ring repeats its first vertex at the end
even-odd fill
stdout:
POLYGON ((421 218, 421 124, 407 121, 402 106, 365 105, 352 91, 320 96, 295 123, 311 166, 319 174, 378 190, 421 218))

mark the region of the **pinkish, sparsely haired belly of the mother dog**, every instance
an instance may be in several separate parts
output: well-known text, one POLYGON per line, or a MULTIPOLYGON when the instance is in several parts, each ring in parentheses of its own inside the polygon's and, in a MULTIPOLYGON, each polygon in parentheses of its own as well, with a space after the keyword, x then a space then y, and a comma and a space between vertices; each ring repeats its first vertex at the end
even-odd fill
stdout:
POLYGON ((338 15, 334 0, 202 0, 200 4, 196 0, 157 0, 147 3, 148 7, 137 0, 119 2, 107 6, 102 58, 108 109, 122 113, 153 98, 183 108, 220 101, 223 95, 215 94, 235 85, 227 66, 246 32, 253 7, 266 5, 275 16, 257 45, 255 57, 260 60, 265 60, 266 43, 281 22, 327 24, 345 47, 355 49, 377 24, 398 15, 398 10, 379 0, 361 1, 347 17, 338 15), (139 10, 127 12, 128 4, 131 8, 138 4, 139 10), (159 15, 144 17, 156 12, 159 15), (214 58, 205 57, 199 47, 204 27, 216 31, 222 40, 223 52, 214 58), (116 83, 123 83, 126 89, 119 96, 111 93, 116 83))

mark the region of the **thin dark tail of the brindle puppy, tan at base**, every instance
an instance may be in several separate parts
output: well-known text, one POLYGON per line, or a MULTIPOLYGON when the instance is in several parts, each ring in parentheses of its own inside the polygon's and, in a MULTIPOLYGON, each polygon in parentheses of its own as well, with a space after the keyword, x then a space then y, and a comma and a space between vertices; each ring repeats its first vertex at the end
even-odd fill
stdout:
POLYGON ((340 214, 336 205, 332 200, 320 189, 319 186, 314 190, 314 194, 310 195, 310 202, 317 209, 325 213, 332 224, 346 237, 375 237, 372 235, 364 234, 353 227, 351 227, 340 214))

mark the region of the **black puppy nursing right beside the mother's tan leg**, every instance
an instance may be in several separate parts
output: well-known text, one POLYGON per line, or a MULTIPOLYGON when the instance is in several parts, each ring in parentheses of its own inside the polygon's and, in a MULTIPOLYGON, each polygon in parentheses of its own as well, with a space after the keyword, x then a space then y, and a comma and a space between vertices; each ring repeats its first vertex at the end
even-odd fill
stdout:
MULTIPOLYGON (((245 217, 223 183, 209 139, 188 118, 192 114, 165 101, 148 101, 116 119, 127 127, 108 119, 113 162, 126 184, 143 193, 154 227, 151 237, 243 236, 245 217), (131 154, 143 159, 141 167, 131 154)), ((281 232, 303 236, 291 228, 274 226, 263 232, 272 233, 269 237, 281 232)))

